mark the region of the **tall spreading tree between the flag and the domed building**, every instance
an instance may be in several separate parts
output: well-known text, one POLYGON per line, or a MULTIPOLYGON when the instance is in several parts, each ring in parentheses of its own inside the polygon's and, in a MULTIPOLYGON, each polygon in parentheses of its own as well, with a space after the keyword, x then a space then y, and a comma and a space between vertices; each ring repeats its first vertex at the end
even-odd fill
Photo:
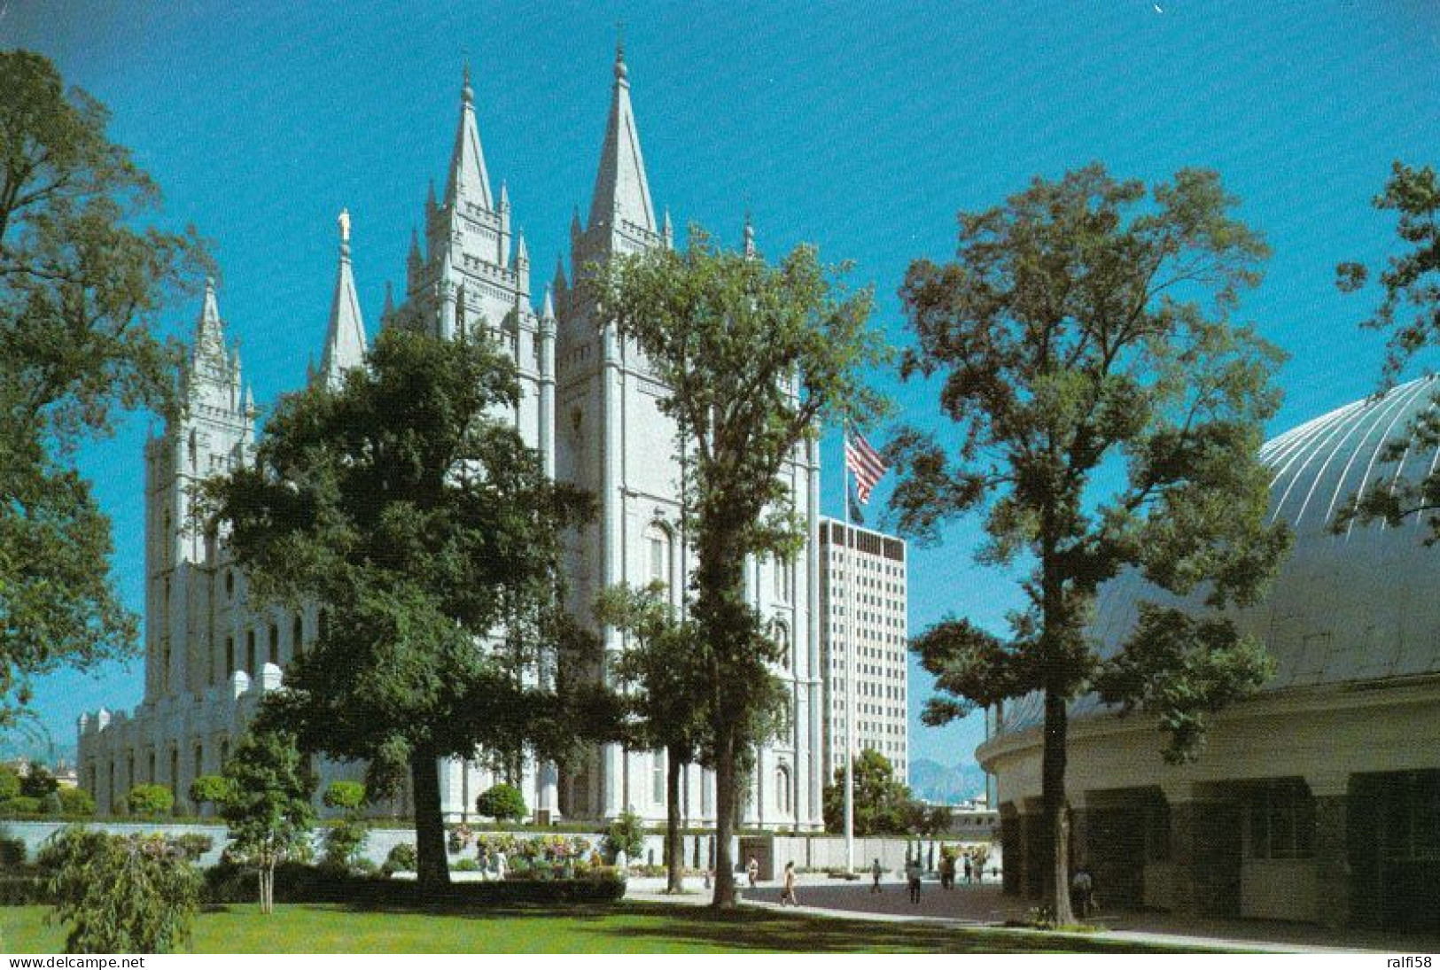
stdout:
POLYGON ((1211 171, 1151 191, 1099 166, 1037 178, 960 214, 956 259, 912 263, 900 291, 916 338, 903 373, 936 377, 953 422, 897 439, 901 525, 933 538, 982 511, 979 560, 1024 576, 1007 633, 950 617, 916 639, 942 692, 924 720, 1043 697, 1045 897, 1061 923, 1067 702, 1097 688, 1152 711, 1178 758, 1207 712, 1269 671, 1263 645, 1221 615, 1149 604, 1106 659, 1086 629, 1120 570, 1224 607, 1253 602, 1287 548, 1264 524, 1259 462, 1280 353, 1231 321, 1267 249, 1234 204, 1211 171))

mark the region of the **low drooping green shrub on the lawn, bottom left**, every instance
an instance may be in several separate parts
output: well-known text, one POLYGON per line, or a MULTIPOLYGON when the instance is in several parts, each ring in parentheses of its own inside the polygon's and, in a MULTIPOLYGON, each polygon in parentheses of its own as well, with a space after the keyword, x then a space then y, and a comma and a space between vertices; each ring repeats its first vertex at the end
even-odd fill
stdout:
POLYGON ((170 953, 189 943, 200 876, 163 836, 66 826, 39 865, 55 899, 49 920, 71 927, 66 953, 170 953))

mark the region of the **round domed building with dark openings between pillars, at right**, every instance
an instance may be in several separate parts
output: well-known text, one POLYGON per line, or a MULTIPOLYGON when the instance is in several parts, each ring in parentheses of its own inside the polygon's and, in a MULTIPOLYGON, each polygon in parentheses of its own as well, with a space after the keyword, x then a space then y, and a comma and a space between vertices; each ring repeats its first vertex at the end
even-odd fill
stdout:
MULTIPOLYGON (((1142 712, 1071 707, 1071 862, 1090 864, 1107 904, 1440 928, 1440 545, 1421 514, 1332 531, 1362 484, 1436 469, 1411 427, 1437 393, 1437 377, 1411 381, 1263 446, 1269 514, 1295 547, 1264 602, 1234 616, 1276 674, 1211 720, 1198 760, 1165 764, 1142 712)), ((1145 599, 1174 602, 1133 573, 1100 590, 1102 651, 1145 599)), ((989 714, 976 756, 998 779, 1005 891, 1040 895, 1038 697, 989 714)))

